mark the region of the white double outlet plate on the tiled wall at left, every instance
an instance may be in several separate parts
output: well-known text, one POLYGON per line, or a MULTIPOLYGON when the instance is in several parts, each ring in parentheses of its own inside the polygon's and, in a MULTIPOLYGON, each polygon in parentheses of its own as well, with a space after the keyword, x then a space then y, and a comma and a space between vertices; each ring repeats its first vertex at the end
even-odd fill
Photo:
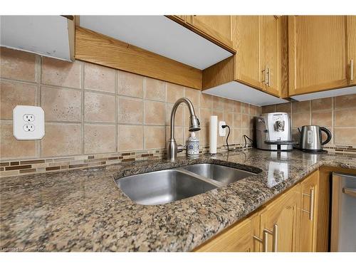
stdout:
POLYGON ((45 135, 44 111, 41 107, 31 105, 16 105, 12 111, 14 137, 17 140, 41 140, 45 135), (24 115, 33 115, 34 120, 26 121, 24 115), (31 125, 26 131, 25 125, 31 125), (34 127, 34 130, 32 130, 34 127))

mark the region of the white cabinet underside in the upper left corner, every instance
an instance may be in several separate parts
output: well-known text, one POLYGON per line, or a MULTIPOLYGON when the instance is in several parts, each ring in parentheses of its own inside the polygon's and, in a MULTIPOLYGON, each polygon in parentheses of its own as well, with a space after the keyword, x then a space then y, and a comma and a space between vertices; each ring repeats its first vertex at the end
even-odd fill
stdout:
POLYGON ((70 61, 68 23, 63 16, 1 16, 0 46, 70 61))

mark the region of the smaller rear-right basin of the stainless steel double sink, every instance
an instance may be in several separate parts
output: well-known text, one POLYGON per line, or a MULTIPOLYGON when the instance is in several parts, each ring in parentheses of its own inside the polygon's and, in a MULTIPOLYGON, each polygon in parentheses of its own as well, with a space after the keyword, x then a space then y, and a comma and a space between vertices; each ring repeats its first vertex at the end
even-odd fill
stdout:
POLYGON ((193 164, 182 168, 223 184, 230 184, 248 176, 255 175, 253 172, 246 172, 241 169, 209 163, 193 164))

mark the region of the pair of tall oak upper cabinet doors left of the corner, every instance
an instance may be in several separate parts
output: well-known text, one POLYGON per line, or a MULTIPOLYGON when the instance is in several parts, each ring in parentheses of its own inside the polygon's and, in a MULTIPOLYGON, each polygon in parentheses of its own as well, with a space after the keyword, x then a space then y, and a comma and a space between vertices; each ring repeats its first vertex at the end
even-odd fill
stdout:
POLYGON ((278 16, 231 16, 231 26, 237 51, 235 80, 279 96, 281 21, 278 16))

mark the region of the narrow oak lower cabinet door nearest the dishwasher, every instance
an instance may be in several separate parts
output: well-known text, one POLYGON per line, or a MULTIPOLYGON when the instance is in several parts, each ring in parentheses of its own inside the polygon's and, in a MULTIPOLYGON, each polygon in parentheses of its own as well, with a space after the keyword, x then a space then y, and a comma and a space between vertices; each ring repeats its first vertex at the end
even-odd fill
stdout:
POLYGON ((300 183, 300 239, 299 251, 316 251, 317 206, 318 206, 318 172, 313 172, 300 183))

